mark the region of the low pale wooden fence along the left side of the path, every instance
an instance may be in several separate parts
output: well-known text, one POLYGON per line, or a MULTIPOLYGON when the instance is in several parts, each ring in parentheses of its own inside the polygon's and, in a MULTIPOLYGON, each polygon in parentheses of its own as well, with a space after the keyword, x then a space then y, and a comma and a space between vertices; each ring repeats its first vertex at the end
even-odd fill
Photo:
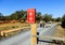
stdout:
POLYGON ((23 27, 23 28, 17 28, 17 29, 12 29, 12 30, 0 31, 0 39, 5 38, 11 32, 18 32, 18 31, 21 32, 23 31, 23 29, 27 29, 27 28, 30 28, 30 27, 23 27))

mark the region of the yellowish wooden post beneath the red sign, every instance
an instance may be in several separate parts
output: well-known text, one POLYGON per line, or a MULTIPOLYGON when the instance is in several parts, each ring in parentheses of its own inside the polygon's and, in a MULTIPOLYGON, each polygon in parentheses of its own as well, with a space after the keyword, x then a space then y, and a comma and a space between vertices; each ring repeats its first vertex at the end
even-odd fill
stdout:
POLYGON ((31 25, 31 45, 37 45, 37 38, 34 35, 37 35, 37 25, 36 24, 31 25))

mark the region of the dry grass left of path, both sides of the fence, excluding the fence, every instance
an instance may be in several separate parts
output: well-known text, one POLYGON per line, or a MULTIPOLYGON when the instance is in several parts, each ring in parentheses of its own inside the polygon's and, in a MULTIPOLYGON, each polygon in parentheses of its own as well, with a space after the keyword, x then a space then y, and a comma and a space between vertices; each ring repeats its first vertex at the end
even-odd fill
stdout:
MULTIPOLYGON (((0 25, 0 31, 4 31, 4 30, 12 30, 12 29, 17 29, 17 28, 24 28, 24 27, 29 27, 28 24, 20 24, 20 22, 16 22, 16 24, 2 24, 0 25)), ((26 31, 26 30, 18 30, 18 31, 13 31, 13 32, 8 32, 5 34, 5 36, 12 36, 12 35, 15 35, 20 32, 23 32, 23 31, 26 31)), ((4 36, 2 36, 4 38, 4 36)))

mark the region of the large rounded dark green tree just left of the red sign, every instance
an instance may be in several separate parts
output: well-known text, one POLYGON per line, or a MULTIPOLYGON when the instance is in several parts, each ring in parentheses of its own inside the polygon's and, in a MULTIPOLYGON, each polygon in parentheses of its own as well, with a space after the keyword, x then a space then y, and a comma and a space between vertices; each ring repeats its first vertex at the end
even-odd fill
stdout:
POLYGON ((26 16, 26 11, 16 11, 15 13, 13 13, 10 17, 11 19, 21 19, 22 17, 26 16))

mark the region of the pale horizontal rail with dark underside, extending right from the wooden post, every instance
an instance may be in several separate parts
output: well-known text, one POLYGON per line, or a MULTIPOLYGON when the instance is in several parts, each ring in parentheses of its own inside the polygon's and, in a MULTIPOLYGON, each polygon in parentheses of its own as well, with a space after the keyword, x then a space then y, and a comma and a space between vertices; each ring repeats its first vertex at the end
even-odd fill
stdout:
POLYGON ((65 45, 65 38, 42 36, 42 35, 39 35, 39 32, 37 32, 37 35, 32 35, 32 36, 37 38, 37 44, 38 44, 38 42, 46 42, 46 43, 65 45))

